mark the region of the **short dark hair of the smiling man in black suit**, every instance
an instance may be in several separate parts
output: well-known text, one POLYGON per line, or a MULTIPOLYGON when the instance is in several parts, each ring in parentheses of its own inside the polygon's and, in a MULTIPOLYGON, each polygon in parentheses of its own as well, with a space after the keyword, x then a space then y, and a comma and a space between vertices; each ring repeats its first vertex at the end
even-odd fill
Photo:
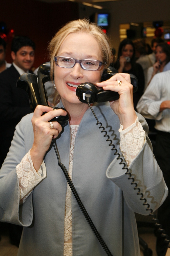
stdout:
POLYGON ((31 46, 35 50, 35 43, 27 36, 16 36, 12 40, 11 50, 16 54, 23 46, 31 46))

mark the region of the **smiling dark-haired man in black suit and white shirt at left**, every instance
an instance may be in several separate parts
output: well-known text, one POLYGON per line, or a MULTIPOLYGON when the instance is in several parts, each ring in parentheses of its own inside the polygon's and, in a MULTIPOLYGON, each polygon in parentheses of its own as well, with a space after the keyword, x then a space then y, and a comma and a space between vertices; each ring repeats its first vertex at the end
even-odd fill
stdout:
MULTIPOLYGON (((9 151, 15 127, 32 110, 26 91, 17 88, 17 79, 30 72, 34 62, 34 42, 25 36, 12 40, 11 67, 0 74, 0 167, 9 151)), ((9 224, 10 240, 19 246, 22 227, 9 224)))

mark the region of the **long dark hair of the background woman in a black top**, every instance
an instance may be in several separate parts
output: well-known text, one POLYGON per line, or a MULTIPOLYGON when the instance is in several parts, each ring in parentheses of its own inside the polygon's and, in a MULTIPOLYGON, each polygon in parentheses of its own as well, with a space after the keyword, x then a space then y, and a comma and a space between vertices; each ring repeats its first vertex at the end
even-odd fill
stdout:
POLYGON ((133 53, 133 55, 132 55, 132 58, 131 58, 131 60, 130 60, 130 63, 131 63, 131 65, 134 65, 134 63, 135 63, 135 47, 134 47, 134 43, 133 43, 132 40, 130 40, 130 39, 124 39, 124 40, 121 41, 120 44, 119 44, 118 59, 117 59, 115 65, 114 65, 114 67, 115 67, 116 69, 119 69, 119 66, 120 66, 120 64, 119 64, 119 59, 120 59, 120 56, 122 56, 122 49, 123 49, 127 44, 132 45, 133 51, 134 51, 134 53, 133 53))

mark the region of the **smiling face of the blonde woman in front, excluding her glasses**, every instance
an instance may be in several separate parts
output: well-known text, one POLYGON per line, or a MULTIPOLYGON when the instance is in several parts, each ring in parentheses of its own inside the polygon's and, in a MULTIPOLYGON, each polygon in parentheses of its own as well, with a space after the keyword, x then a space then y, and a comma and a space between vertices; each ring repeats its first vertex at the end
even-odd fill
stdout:
MULTIPOLYGON (((77 60, 102 60, 99 44, 95 37, 85 32, 70 33, 61 44, 57 56, 70 57, 77 60)), ((103 72, 88 71, 81 68, 79 63, 76 63, 72 68, 54 67, 55 85, 59 92, 62 103, 80 104, 78 97, 75 94, 79 84, 85 82, 96 83, 101 79, 103 72)), ((82 103, 83 104, 83 103, 82 103)))

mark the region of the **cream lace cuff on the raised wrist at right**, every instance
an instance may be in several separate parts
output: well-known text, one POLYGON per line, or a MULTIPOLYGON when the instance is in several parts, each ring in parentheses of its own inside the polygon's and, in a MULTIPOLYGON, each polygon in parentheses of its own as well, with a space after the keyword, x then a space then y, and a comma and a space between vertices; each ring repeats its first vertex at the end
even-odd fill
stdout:
POLYGON ((146 143, 146 135, 138 118, 135 123, 125 130, 123 130, 122 125, 120 125, 119 132, 120 150, 129 167, 146 143))

